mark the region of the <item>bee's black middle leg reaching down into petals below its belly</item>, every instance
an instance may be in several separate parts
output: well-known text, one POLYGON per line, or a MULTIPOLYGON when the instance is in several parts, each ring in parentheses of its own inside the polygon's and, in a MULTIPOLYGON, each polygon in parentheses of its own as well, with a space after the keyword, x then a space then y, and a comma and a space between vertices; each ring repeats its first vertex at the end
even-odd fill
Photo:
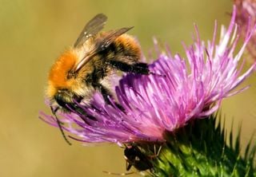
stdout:
MULTIPOLYGON (((106 104, 111 104, 110 98, 112 98, 111 92, 102 84, 94 82, 93 87, 98 89, 102 93, 103 99, 105 100, 106 104)), ((118 107, 121 111, 124 111, 125 109, 122 108, 122 105, 118 104, 117 102, 114 101, 114 104, 116 107, 118 107)))

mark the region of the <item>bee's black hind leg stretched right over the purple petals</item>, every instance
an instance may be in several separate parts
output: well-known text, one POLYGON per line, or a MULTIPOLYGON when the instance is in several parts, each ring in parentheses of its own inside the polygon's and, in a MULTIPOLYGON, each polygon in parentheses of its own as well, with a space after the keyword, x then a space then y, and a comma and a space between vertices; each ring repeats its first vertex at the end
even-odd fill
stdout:
POLYGON ((127 64, 123 61, 110 61, 110 65, 126 73, 150 74, 150 69, 146 63, 127 64))

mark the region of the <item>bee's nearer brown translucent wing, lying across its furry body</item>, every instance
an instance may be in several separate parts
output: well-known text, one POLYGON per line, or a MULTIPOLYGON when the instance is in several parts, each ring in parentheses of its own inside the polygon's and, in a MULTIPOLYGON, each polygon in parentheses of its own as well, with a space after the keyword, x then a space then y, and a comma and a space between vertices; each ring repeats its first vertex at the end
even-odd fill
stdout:
POLYGON ((90 61, 97 53, 102 52, 103 50, 107 49, 110 44, 119 36, 121 36, 123 33, 126 33, 128 30, 132 29, 133 27, 126 27, 121 28, 118 30, 111 30, 106 34, 105 37, 99 37, 95 41, 94 49, 92 49, 89 54, 86 55, 79 63, 76 65, 76 68, 74 69, 75 72, 77 72, 79 69, 82 68, 82 66, 86 65, 88 61, 90 61))

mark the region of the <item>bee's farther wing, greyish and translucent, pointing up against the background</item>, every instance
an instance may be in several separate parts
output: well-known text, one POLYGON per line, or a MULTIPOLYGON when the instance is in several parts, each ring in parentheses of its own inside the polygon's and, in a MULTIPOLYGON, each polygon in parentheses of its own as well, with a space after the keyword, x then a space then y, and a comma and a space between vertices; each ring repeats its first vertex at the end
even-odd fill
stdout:
POLYGON ((90 22, 86 23, 86 26, 82 29, 79 34, 77 41, 74 42, 74 48, 78 48, 85 43, 85 41, 97 34, 103 29, 106 24, 107 17, 105 14, 97 14, 90 22))

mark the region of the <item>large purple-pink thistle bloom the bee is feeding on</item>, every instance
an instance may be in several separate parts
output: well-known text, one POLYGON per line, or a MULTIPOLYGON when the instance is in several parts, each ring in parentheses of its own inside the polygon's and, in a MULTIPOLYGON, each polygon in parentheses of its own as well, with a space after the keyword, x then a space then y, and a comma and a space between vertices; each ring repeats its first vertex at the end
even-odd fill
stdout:
MULTIPOLYGON (((252 30, 246 33, 238 53, 234 53, 239 35, 235 25, 236 10, 229 28, 222 26, 217 43, 217 23, 211 41, 202 41, 195 27, 194 45, 186 46, 186 57, 159 54, 150 65, 154 74, 127 74, 115 88, 118 103, 106 104, 95 92, 89 104, 78 103, 91 119, 79 113, 58 112, 62 128, 70 137, 85 143, 129 143, 134 141, 164 141, 164 132, 173 132, 189 120, 204 118, 215 112, 223 98, 243 90, 233 91, 252 72, 254 65, 241 73, 238 62, 252 30)), ((43 120, 58 127, 54 116, 41 112, 43 120)))

